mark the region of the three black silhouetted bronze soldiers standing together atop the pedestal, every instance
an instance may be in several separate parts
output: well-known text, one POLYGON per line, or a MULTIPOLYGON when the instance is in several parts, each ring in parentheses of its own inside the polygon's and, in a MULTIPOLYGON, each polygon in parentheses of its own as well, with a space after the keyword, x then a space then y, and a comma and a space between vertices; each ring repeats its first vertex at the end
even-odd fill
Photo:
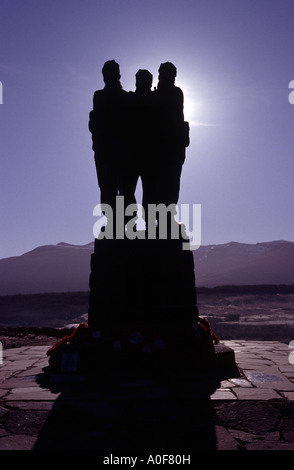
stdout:
POLYGON ((124 196, 125 207, 136 204, 141 178, 147 228, 149 204, 175 206, 179 199, 189 125, 183 92, 175 86, 177 69, 161 64, 155 90, 152 74, 140 69, 135 92, 123 90, 114 60, 105 62, 102 75, 105 86, 95 91, 89 115, 101 204, 112 207, 115 222, 116 196, 124 196))

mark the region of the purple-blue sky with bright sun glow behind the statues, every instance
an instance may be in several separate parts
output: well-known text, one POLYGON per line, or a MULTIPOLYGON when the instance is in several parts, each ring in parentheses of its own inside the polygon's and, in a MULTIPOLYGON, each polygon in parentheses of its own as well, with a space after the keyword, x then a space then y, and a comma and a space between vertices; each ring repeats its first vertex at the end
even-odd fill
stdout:
POLYGON ((202 205, 202 244, 294 241, 293 0, 0 0, 0 41, 0 258, 93 240, 88 112, 108 59, 126 90, 177 66, 179 203, 202 205))

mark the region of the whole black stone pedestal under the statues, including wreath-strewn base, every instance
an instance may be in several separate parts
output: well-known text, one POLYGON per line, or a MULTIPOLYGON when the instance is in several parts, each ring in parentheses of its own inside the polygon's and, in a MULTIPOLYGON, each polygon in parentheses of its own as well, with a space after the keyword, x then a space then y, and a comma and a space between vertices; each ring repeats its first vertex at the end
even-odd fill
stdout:
POLYGON ((79 371, 189 375, 220 369, 224 355, 234 362, 228 350, 215 350, 218 339, 199 318, 193 253, 182 243, 95 240, 88 323, 53 348, 51 364, 79 371))

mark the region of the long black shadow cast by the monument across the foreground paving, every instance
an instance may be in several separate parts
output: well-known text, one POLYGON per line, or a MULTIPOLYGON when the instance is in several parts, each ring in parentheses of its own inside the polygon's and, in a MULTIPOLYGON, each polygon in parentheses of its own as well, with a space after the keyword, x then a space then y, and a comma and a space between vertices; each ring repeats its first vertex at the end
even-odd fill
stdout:
POLYGON ((42 387, 60 392, 34 450, 193 452, 216 449, 210 395, 220 386, 207 373, 56 375, 42 387), (95 377, 94 377, 95 375, 95 377))

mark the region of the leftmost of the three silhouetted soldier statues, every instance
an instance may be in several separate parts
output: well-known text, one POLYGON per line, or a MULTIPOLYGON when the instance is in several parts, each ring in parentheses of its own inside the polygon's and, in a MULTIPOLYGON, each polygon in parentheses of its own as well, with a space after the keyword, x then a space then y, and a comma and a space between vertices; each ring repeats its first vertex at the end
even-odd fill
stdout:
POLYGON ((94 158, 101 193, 101 203, 113 209, 115 222, 116 196, 119 195, 118 163, 124 138, 124 114, 128 93, 120 83, 120 68, 114 60, 102 68, 105 87, 93 96, 93 110, 89 116, 94 158))

